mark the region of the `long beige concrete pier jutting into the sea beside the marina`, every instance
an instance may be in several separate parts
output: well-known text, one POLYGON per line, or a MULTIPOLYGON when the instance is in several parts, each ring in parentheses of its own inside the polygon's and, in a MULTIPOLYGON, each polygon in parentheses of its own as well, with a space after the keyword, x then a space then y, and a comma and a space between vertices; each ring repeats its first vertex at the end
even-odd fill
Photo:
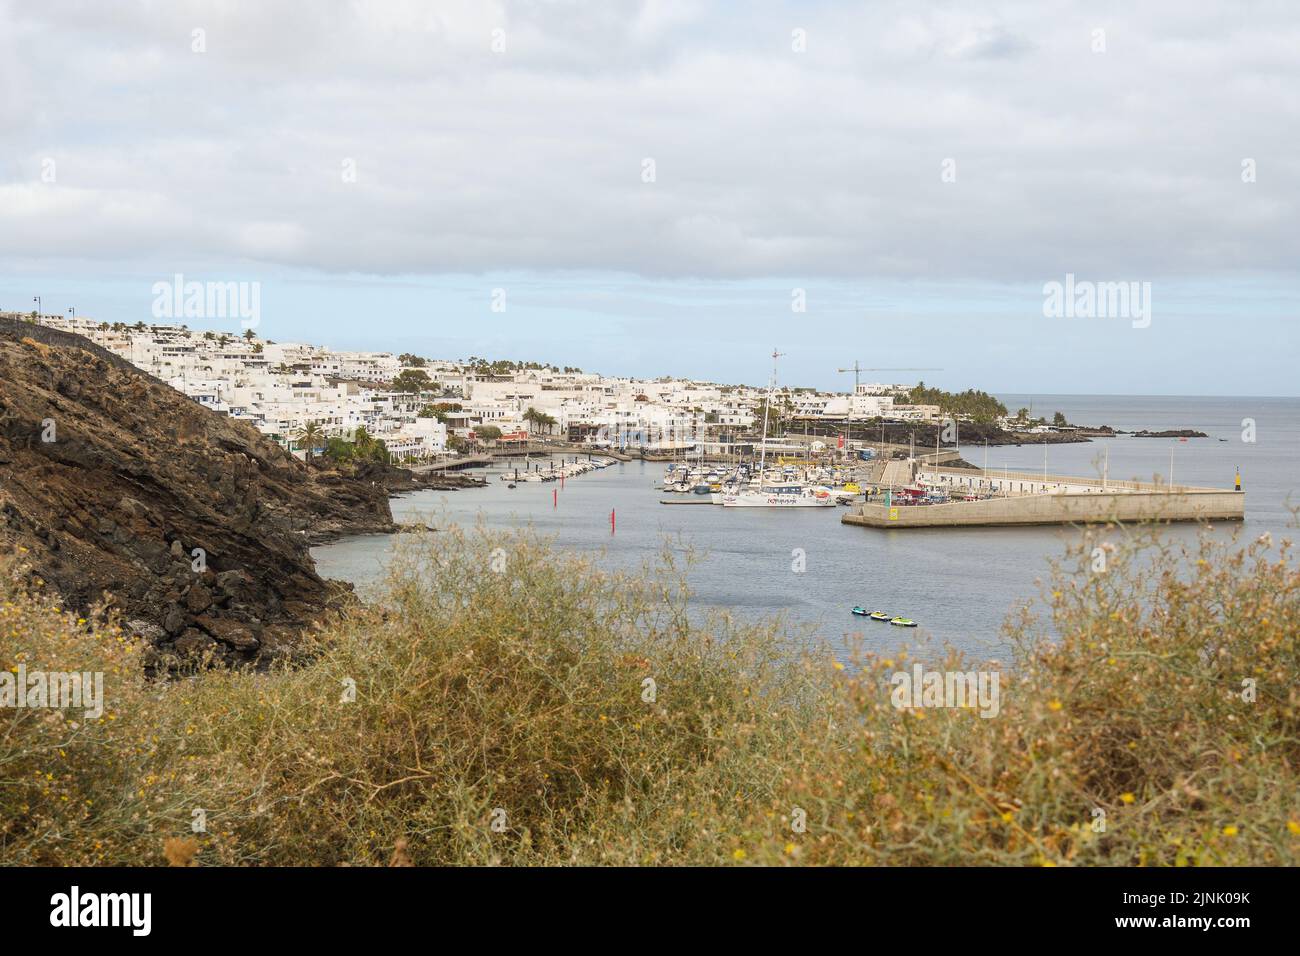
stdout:
POLYGON ((930 468, 916 479, 956 492, 992 493, 980 501, 900 505, 871 501, 841 516, 867 528, 971 528, 1112 522, 1206 522, 1245 518, 1245 494, 1221 488, 1104 481, 979 468, 930 468))

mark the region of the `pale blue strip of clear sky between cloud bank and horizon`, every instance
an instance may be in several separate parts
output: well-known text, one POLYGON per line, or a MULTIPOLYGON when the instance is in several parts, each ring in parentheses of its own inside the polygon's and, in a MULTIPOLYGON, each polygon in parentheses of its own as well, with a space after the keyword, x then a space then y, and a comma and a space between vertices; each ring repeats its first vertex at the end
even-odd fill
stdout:
MULTIPOLYGON (((239 278, 238 272, 224 273, 239 278)), ((255 274, 255 273, 250 273, 255 274)), ((257 273, 260 274, 260 273, 257 273)), ((169 273, 70 282, 0 280, 0 307, 152 321, 151 285, 169 273), (29 299, 25 304, 23 298, 29 299)), ((202 273, 186 273, 202 278, 202 273)), ((1296 395, 1297 290, 1251 280, 1153 285, 1152 323, 1046 319, 1040 287, 796 280, 647 281, 634 276, 307 277, 259 280, 259 334, 439 358, 530 359, 608 375, 783 381, 848 389, 853 365, 939 368, 952 389, 1043 394, 1296 395), (790 311, 803 287, 807 311, 790 311), (506 311, 491 293, 506 290, 506 311)), ((240 332, 234 320, 195 321, 240 332)))

